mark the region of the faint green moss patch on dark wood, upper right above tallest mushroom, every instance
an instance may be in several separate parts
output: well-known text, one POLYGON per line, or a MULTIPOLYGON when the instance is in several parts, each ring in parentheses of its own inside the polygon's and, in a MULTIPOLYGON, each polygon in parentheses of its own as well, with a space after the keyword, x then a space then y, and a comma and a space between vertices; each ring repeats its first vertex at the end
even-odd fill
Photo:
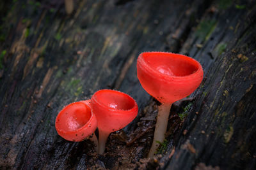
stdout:
POLYGON ((204 38, 204 40, 208 40, 216 28, 217 22, 216 20, 205 20, 200 22, 198 27, 196 28, 195 35, 204 38))

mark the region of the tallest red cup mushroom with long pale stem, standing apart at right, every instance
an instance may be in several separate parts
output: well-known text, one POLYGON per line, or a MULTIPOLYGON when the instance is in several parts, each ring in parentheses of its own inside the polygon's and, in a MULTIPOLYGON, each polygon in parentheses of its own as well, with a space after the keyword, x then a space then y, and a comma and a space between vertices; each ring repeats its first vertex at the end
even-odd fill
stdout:
POLYGON ((164 141, 172 103, 189 96, 200 85, 204 72, 199 62, 185 55, 143 52, 137 60, 137 76, 143 89, 161 102, 148 153, 148 157, 153 157, 159 142, 164 141))

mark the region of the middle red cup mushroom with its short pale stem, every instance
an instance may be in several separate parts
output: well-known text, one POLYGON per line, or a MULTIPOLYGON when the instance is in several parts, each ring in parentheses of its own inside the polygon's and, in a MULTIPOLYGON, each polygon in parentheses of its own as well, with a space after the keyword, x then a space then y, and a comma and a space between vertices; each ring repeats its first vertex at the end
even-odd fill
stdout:
POLYGON ((93 94, 91 106, 98 120, 99 153, 102 154, 109 134, 132 122, 138 114, 138 105, 123 92, 99 90, 93 94))

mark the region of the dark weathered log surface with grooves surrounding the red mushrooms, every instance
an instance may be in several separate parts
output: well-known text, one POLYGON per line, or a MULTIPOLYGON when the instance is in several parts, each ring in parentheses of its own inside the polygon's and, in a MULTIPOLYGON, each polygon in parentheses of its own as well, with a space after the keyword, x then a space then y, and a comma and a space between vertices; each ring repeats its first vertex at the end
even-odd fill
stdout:
POLYGON ((90 141, 68 142, 55 131, 63 106, 99 89, 126 92, 140 107, 124 132, 141 136, 124 140, 127 146, 115 135, 107 143, 131 151, 131 168, 255 169, 255 1, 84 0, 71 15, 63 1, 2 4, 1 169, 121 169, 122 155, 111 157, 108 148, 95 155, 90 141), (154 101, 136 76, 143 51, 184 53, 205 73, 196 92, 172 108, 167 149, 144 163, 155 122, 145 118, 154 101), (188 116, 174 119, 178 112, 188 116))

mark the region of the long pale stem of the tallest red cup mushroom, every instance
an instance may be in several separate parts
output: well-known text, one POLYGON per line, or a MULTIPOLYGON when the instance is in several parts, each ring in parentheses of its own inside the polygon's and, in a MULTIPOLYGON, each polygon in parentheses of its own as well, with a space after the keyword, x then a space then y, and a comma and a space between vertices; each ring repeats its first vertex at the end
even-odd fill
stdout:
POLYGON ((156 121, 156 129, 154 132, 154 140, 152 146, 148 152, 148 157, 154 157, 157 152, 157 148, 159 147, 159 143, 163 143, 164 141, 164 134, 167 129, 168 125, 168 118, 170 114, 172 103, 162 103, 161 106, 158 106, 158 115, 156 121))

